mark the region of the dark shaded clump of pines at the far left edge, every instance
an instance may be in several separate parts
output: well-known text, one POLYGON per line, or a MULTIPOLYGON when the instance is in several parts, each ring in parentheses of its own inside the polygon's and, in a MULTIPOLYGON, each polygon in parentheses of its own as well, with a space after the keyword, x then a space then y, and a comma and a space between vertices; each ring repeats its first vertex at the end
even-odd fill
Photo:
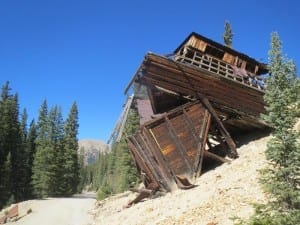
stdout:
POLYGON ((31 165, 27 153, 27 112, 19 116, 17 94, 10 94, 9 82, 0 99, 0 208, 29 198, 31 165))

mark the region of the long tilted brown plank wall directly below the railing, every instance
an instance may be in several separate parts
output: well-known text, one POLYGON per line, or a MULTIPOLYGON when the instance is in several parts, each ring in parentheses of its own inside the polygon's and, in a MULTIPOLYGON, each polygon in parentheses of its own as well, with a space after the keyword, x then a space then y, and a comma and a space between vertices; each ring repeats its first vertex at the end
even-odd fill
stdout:
POLYGON ((226 107, 255 117, 265 112, 263 91, 205 69, 150 53, 145 57, 142 73, 141 82, 182 95, 195 96, 196 92, 200 92, 220 108, 226 107))

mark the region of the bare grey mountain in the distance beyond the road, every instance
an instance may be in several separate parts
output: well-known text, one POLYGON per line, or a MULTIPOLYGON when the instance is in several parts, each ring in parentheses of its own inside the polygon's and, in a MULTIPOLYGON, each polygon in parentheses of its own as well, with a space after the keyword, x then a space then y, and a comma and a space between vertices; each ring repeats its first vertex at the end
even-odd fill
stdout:
POLYGON ((82 139, 78 141, 79 150, 84 148, 84 162, 85 164, 94 163, 100 152, 108 151, 108 144, 99 140, 82 139))

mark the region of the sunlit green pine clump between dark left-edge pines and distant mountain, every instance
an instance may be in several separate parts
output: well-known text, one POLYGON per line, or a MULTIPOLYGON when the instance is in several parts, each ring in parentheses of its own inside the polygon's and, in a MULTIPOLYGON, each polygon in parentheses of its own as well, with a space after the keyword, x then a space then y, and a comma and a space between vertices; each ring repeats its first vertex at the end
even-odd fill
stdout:
POLYGON ((80 181, 78 126, 76 103, 64 122, 60 107, 52 107, 48 113, 47 102, 43 102, 32 170, 32 184, 37 197, 66 196, 77 192, 80 181))

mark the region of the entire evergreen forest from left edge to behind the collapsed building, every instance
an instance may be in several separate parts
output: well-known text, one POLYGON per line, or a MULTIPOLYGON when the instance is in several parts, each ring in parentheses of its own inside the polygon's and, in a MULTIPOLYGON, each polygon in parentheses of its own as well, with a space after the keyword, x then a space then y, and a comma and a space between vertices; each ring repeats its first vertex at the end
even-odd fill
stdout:
POLYGON ((82 190, 98 191, 102 199, 139 183, 126 137, 139 126, 136 109, 130 110, 120 142, 98 160, 84 164, 78 150, 78 108, 74 102, 66 120, 62 109, 44 100, 37 120, 28 124, 20 112, 18 94, 9 82, 0 98, 0 209, 12 203, 46 197, 66 197, 82 190))

